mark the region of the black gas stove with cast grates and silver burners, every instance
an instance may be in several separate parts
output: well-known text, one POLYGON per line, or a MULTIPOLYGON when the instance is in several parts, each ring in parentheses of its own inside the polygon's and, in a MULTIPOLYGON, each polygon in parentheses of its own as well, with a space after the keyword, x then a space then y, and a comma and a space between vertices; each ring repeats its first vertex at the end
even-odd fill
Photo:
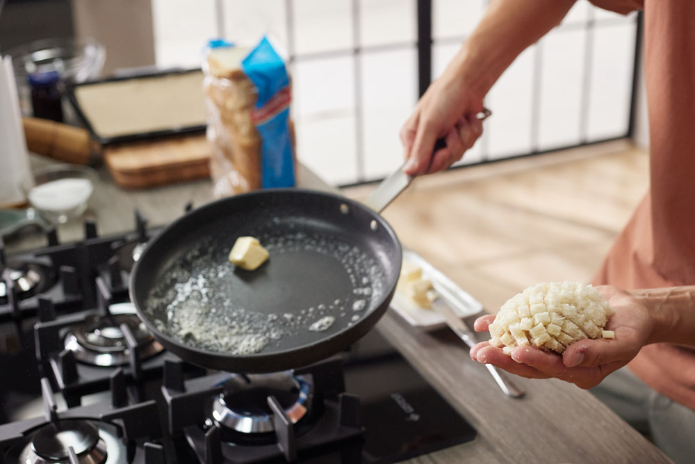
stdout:
POLYGON ((135 232, 96 231, 15 255, 0 241, 0 464, 391 463, 475 437, 375 330, 293 371, 191 365, 128 299, 156 230, 136 212, 135 232))

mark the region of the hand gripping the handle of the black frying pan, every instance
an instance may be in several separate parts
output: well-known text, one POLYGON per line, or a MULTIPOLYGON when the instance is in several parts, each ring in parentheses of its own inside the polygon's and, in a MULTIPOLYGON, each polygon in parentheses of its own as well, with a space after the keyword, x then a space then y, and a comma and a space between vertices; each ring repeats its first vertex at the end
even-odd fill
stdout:
POLYGON ((430 85, 400 131, 407 159, 404 172, 436 173, 461 159, 482 134, 482 122, 476 117, 480 111, 482 95, 448 69, 430 85), (444 138, 446 147, 433 153, 438 138, 444 138))

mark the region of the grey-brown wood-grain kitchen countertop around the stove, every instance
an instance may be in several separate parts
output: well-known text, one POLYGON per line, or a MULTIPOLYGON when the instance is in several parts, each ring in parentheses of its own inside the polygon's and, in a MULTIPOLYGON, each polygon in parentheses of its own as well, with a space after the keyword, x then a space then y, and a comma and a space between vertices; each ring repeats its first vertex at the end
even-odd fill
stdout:
MULTIPOLYGON (((34 166, 51 163, 33 157, 34 166)), ((212 199, 210 182, 191 182, 123 191, 105 170, 90 202, 99 234, 133 230, 138 207, 149 225, 179 217, 188 202, 212 199)), ((300 166, 300 186, 332 190, 300 166)), ((60 225, 61 241, 81 238, 81 223, 60 225)), ((8 241, 8 251, 44 245, 37 234, 8 241)), ((404 245, 407 246, 407 243, 404 245)), ((425 259, 427 256, 425 256, 425 259)), ((468 289, 471 291, 471 289, 468 289)), ((471 291, 475 296, 475 291, 471 291)), ((499 390, 482 365, 449 330, 424 333, 389 311, 377 330, 397 347, 418 371, 477 429, 475 440, 411 459, 409 463, 669 463, 669 459, 589 392, 561 381, 514 377, 527 394, 510 399, 499 390)))

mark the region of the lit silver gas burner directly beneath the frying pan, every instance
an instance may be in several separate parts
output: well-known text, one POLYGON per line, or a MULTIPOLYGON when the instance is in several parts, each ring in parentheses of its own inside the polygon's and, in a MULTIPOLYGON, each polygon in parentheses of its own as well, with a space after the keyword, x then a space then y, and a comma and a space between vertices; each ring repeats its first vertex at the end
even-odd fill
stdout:
MULTIPOLYGON (((268 381, 277 381, 279 377, 284 378, 283 382, 285 385, 293 385, 293 389, 296 389, 294 393, 296 398, 290 401, 280 400, 281 406, 284 408, 285 414, 288 419, 293 424, 305 417, 309 413, 311 407, 311 398, 313 396, 313 385, 309 382, 305 376, 293 376, 289 372, 279 373, 279 374, 257 374, 255 376, 240 376, 238 374, 233 374, 231 378, 227 381, 225 385, 225 390, 227 390, 228 384, 231 382, 231 391, 228 390, 226 393, 222 393, 215 397, 212 405, 212 418, 216 425, 237 431, 239 433, 269 433, 275 431, 275 424, 273 422, 273 415, 267 411, 263 411, 266 408, 265 398, 262 399, 263 404, 259 405, 260 410, 240 410, 237 406, 231 406, 231 401, 225 399, 228 395, 234 395, 234 386, 252 384, 254 381, 260 381, 261 383, 268 381), (251 379, 251 383, 247 381, 251 379)), ((249 387, 247 389, 250 390, 249 387)), ((238 393, 238 392, 237 392, 238 393)), ((245 403, 245 401, 240 401, 245 403)))

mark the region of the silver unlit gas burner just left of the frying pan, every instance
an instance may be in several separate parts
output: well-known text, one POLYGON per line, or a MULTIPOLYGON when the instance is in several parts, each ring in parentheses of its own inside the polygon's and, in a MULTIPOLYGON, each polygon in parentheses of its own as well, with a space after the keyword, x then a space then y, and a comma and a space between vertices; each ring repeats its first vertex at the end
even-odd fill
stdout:
POLYGON ((129 362, 129 350, 120 326, 125 323, 138 340, 138 355, 145 360, 164 351, 164 347, 147 332, 131 303, 111 305, 111 320, 89 314, 82 323, 65 335, 65 349, 76 360, 96 366, 120 366, 129 362))

